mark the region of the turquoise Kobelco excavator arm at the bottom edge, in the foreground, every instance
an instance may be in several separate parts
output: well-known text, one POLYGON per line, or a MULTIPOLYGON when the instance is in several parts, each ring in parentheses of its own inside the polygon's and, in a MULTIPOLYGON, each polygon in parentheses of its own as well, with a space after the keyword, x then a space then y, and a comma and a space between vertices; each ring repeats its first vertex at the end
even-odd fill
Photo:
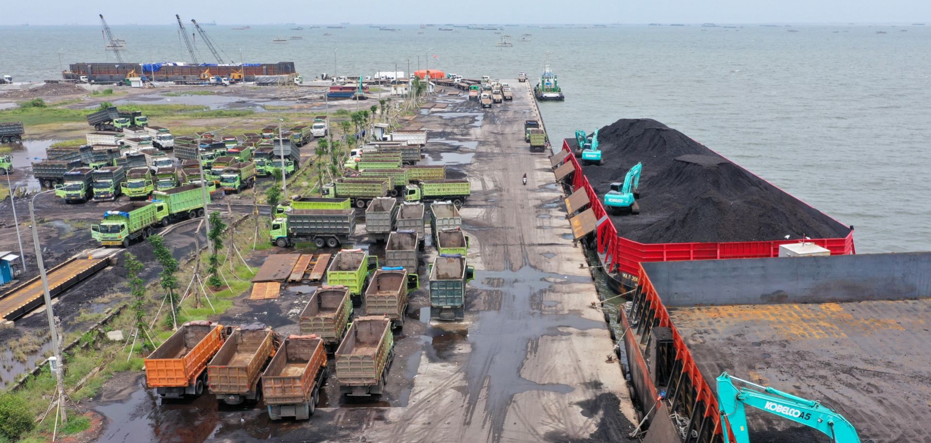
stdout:
MULTIPOLYGON (((841 414, 820 402, 750 383, 733 377, 727 372, 722 372, 717 382, 718 406, 721 408, 719 412, 725 442, 730 442, 731 436, 734 436, 736 443, 750 442, 745 408, 751 406, 815 428, 822 434, 830 436, 834 443, 860 443, 860 437, 857 436, 854 425, 847 422, 841 414), (746 385, 746 387, 738 387, 735 382, 746 385)), ((871 442, 872 440, 866 440, 863 443, 871 442)))

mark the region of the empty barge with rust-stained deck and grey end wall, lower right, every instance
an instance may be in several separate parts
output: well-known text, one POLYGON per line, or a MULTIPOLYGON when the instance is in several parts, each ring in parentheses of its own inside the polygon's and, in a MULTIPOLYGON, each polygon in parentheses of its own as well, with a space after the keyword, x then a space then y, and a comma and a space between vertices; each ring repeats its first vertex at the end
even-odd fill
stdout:
MULTIPOLYGON (((820 401, 863 441, 931 441, 931 253, 641 262, 639 269, 618 323, 632 396, 641 416, 652 409, 644 441, 723 443, 728 424, 715 379, 725 371, 820 401)), ((748 419, 752 441, 830 441, 759 409, 748 419)))

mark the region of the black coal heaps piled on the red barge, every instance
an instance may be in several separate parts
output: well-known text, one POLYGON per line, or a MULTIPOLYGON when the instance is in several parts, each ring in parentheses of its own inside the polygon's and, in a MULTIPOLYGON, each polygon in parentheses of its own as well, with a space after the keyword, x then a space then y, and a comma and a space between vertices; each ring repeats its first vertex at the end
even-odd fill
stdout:
POLYGON ((583 166, 598 195, 643 163, 639 215, 612 215, 617 234, 641 243, 843 238, 850 228, 651 119, 600 128, 601 166, 583 166))

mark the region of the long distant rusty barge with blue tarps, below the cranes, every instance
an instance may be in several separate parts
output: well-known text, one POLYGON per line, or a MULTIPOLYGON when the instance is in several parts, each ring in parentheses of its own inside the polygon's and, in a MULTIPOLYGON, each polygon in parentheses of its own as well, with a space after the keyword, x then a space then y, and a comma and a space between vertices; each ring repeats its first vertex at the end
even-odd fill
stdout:
POLYGON ((88 77, 90 83, 121 82, 128 77, 146 76, 153 81, 196 81, 211 76, 226 77, 233 80, 254 82, 256 76, 285 75, 297 76, 293 61, 277 63, 72 63, 68 71, 61 73, 65 80, 81 80, 88 77))

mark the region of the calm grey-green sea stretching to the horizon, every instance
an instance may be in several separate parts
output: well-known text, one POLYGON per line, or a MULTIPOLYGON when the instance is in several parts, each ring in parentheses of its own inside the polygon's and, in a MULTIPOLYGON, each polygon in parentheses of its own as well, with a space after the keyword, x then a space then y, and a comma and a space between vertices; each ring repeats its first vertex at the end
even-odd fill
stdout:
MULTIPOLYGON (((553 137, 621 117, 654 118, 853 224, 858 252, 931 249, 931 29, 736 26, 205 29, 232 60, 293 60, 305 78, 396 65, 536 76, 550 51, 567 97, 542 105, 553 137), (513 47, 495 47, 502 34, 513 47)), ((174 26, 114 31, 127 41, 128 60, 190 60, 174 26)), ((17 80, 57 78, 69 62, 114 60, 96 26, 0 27, 0 41, 8 43, 0 74, 17 80)), ((199 35, 196 45, 199 60, 216 62, 199 35)))

